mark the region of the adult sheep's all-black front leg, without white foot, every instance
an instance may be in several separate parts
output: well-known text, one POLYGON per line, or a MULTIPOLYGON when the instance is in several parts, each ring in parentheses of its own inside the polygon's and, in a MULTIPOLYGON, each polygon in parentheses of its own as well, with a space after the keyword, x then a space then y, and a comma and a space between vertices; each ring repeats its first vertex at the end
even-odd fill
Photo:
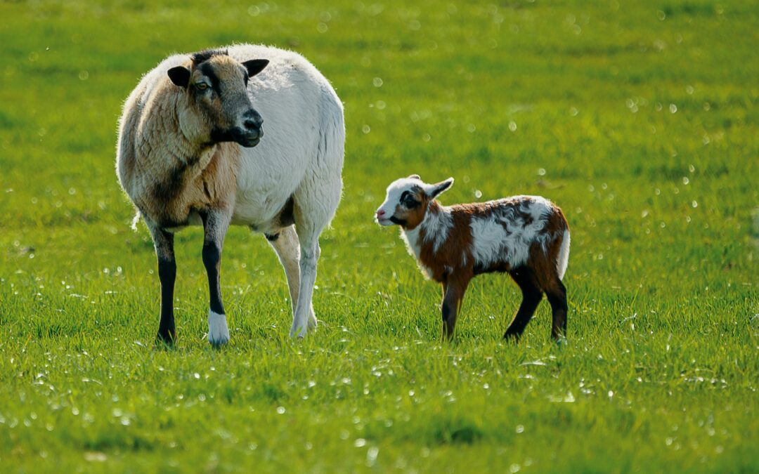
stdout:
POLYGON ((151 228, 153 244, 158 257, 158 277, 161 281, 161 322, 156 339, 165 344, 173 344, 177 338, 174 325, 174 282, 177 277, 177 262, 174 259, 174 234, 160 228, 151 228))

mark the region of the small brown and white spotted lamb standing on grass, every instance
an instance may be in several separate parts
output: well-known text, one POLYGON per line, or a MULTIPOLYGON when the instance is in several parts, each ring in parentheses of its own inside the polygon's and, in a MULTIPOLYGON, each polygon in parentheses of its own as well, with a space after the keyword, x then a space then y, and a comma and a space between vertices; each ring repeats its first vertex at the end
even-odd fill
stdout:
POLYGON ((418 174, 395 180, 376 211, 383 226, 397 224, 408 252, 427 276, 442 284, 443 334, 453 337, 456 317, 475 275, 508 272, 522 302, 504 337, 518 341, 537 305, 548 297, 551 334, 565 337, 569 226, 559 207, 540 196, 441 206, 435 199, 453 178, 424 183, 418 174))

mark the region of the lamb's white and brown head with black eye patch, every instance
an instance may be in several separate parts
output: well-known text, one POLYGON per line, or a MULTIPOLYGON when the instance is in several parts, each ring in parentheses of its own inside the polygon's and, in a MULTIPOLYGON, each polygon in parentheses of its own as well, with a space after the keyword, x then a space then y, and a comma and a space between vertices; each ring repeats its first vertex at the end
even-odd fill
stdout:
POLYGON ((430 202, 452 184, 452 177, 436 184, 427 184, 418 174, 395 180, 387 187, 385 202, 377 209, 375 220, 379 225, 398 224, 406 229, 416 228, 424 221, 430 202))

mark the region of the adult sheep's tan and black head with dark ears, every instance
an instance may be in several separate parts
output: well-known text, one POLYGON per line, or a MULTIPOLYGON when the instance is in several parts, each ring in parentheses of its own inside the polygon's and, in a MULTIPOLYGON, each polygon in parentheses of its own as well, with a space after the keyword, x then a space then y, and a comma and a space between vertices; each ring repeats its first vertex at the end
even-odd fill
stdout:
POLYGON ((250 102, 247 81, 266 64, 266 59, 240 63, 226 52, 203 51, 192 56, 189 67, 169 69, 169 79, 184 89, 178 104, 184 136, 194 143, 256 146, 263 136, 263 119, 250 102))

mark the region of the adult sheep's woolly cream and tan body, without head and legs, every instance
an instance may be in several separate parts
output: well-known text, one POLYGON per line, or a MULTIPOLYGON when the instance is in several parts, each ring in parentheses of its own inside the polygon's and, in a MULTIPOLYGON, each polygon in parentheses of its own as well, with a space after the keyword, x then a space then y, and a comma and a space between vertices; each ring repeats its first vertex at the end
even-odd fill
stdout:
POLYGON ((320 214, 316 221, 331 220, 342 190, 345 143, 342 103, 332 86, 297 53, 254 45, 224 49, 238 61, 269 60, 247 86, 266 137, 255 148, 220 143, 197 149, 188 143, 175 112, 181 89, 167 71, 191 56, 173 55, 146 74, 124 104, 117 153, 121 186, 144 218, 165 227, 200 224, 193 209, 228 201, 233 224, 274 233, 291 196, 313 202, 309 211, 320 214), (179 175, 178 168, 184 170, 179 175), (186 192, 165 196, 168 209, 156 202, 156 190, 178 184, 186 192))

